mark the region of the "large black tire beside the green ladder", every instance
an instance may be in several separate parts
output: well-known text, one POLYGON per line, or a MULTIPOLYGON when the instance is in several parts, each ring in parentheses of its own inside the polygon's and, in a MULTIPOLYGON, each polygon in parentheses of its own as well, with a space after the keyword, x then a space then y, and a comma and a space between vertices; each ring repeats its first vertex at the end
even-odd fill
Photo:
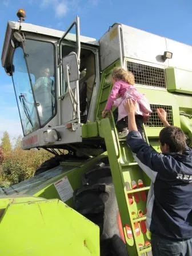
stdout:
POLYGON ((99 163, 83 175, 82 183, 74 192, 75 209, 99 226, 101 256, 128 256, 119 234, 119 210, 109 165, 99 163))

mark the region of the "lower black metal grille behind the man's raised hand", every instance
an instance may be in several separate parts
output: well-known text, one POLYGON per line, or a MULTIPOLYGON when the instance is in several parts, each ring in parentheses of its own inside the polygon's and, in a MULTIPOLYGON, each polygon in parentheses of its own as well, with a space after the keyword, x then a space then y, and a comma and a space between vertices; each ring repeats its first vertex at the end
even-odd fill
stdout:
POLYGON ((149 121, 146 123, 146 126, 149 126, 149 127, 163 126, 162 121, 158 118, 158 114, 157 114, 158 108, 165 109, 165 111, 167 112, 167 121, 170 123, 170 125, 173 125, 173 113, 172 113, 171 106, 150 104, 150 107, 151 107, 152 113, 149 118, 149 121))

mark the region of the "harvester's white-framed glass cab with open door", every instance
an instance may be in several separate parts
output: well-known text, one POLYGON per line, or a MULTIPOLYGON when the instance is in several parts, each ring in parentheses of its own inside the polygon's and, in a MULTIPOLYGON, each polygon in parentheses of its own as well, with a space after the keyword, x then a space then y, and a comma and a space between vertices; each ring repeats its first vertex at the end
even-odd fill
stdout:
POLYGON ((13 78, 23 149, 82 142, 99 71, 98 43, 80 36, 78 17, 64 34, 9 22, 2 65, 13 78))

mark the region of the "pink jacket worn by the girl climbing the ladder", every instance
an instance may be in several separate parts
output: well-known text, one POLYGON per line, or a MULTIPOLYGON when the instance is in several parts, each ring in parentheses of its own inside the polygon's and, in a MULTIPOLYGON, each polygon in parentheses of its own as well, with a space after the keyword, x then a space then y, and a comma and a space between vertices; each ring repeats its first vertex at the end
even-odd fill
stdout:
POLYGON ((126 98, 137 101, 137 109, 135 114, 147 116, 152 113, 149 102, 146 97, 139 93, 138 90, 125 81, 117 81, 114 83, 111 93, 107 99, 105 110, 111 110, 112 106, 118 107, 118 121, 127 116, 124 103, 126 98), (120 95, 120 98, 117 98, 120 95))

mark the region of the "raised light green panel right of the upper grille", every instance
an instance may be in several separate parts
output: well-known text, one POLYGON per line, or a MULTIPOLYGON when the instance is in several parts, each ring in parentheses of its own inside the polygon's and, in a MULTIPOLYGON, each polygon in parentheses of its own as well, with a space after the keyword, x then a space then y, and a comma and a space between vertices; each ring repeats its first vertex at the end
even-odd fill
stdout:
POLYGON ((167 90, 177 93, 192 94, 192 72, 183 69, 168 67, 165 69, 167 90))

